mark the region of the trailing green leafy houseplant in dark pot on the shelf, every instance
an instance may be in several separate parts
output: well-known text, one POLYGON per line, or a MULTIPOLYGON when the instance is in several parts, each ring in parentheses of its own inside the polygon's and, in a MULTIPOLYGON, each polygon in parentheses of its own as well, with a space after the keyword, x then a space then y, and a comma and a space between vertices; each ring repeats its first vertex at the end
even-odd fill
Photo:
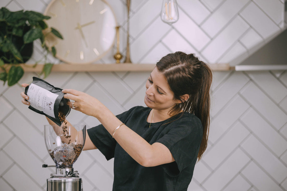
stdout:
MULTIPOLYGON (((34 40, 41 40, 46 55, 52 51, 55 56, 56 49, 52 47, 49 50, 45 45, 45 36, 53 33, 58 38, 63 37, 56 29, 47 26, 45 20, 48 19, 49 16, 35 11, 11 12, 5 7, 0 9, 0 80, 4 83, 7 81, 8 86, 17 83, 23 76, 24 70, 19 64, 31 57, 34 40), (9 67, 4 63, 8 63, 9 67)), ((44 77, 49 75, 52 66, 52 63, 46 63, 41 74, 44 77)))

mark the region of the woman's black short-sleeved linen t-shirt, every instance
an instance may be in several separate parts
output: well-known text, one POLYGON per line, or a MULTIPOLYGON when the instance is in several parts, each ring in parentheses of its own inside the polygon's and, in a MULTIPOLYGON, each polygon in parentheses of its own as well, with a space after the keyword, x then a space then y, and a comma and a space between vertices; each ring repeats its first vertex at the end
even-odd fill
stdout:
POLYGON ((114 191, 184 191, 191 182, 203 133, 201 121, 195 115, 183 112, 150 126, 146 120, 150 111, 151 108, 136 106, 117 118, 148 143, 165 145, 175 160, 172 163, 141 166, 104 126, 88 129, 90 139, 106 159, 115 158, 114 191))

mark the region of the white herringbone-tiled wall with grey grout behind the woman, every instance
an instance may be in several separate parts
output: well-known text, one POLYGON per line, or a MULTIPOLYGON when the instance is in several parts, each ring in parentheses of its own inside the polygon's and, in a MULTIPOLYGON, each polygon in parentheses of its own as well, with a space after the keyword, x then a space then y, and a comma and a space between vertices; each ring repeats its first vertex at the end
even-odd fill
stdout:
MULTIPOLYGON (((2 0, 1 7, 44 12, 50 0, 2 0)), ((125 55, 127 7, 124 0, 107 0, 120 29, 125 55)), ((131 0, 130 53, 134 63, 156 63, 162 56, 184 51, 201 60, 236 65, 254 47, 283 30, 283 0, 179 0, 179 21, 171 26, 159 17, 162 1, 131 0)), ((63 34, 65 36, 65 34, 63 34)), ((96 63, 114 62, 112 50, 96 63)), ((28 63, 43 57, 40 43, 28 63)), ((124 58, 122 59, 122 61, 124 58)), ((48 56, 48 61, 60 61, 48 56)), ((114 114, 144 104, 150 72, 52 72, 46 81, 84 91, 114 114)), ((25 73, 13 87, 0 83, 0 190, 46 190, 55 169, 44 145, 47 122, 21 103, 21 83, 37 73, 25 73), (38 173, 36 173, 38 172, 38 173), (16 175, 16 176, 15 176, 16 175)), ((195 165, 189 191, 287 191, 287 72, 214 72, 208 149, 195 165)), ((87 128, 99 121, 71 111, 68 120, 87 128)), ((85 191, 113 186, 113 159, 98 150, 84 151, 74 165, 85 191)))

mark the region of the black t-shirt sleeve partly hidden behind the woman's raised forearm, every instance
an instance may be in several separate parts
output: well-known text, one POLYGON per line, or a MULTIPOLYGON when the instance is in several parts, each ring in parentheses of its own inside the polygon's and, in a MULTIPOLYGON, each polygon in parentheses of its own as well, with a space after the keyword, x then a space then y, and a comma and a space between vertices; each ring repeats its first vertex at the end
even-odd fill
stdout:
MULTIPOLYGON (((135 107, 117 115, 116 117, 121 120, 121 122, 125 123, 127 116, 129 116, 134 108, 135 107)), ((87 132, 93 144, 99 149, 107 160, 114 157, 117 142, 102 124, 88 129, 87 132)))

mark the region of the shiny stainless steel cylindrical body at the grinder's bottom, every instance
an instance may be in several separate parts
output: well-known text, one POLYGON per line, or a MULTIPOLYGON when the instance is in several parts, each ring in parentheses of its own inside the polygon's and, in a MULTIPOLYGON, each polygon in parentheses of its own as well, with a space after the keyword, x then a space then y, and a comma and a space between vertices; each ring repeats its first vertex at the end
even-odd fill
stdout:
POLYGON ((47 178, 47 191, 83 191, 82 178, 47 178))

